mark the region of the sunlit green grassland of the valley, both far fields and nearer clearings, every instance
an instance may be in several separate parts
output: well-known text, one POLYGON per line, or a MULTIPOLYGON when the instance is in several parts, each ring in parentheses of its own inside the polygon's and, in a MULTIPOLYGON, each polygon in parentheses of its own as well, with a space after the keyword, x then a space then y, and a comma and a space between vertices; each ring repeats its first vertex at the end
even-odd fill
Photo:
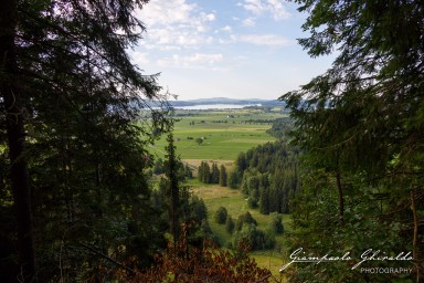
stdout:
MULTIPOLYGON (((237 155, 242 151, 267 143, 275 138, 266 133, 272 126, 272 120, 284 117, 280 113, 265 113, 259 109, 225 109, 225 111, 177 111, 174 124, 174 145, 177 153, 184 163, 194 168, 201 160, 223 164, 227 170, 237 155), (203 138, 199 145, 195 139, 203 138)), ((163 158, 166 137, 162 137, 152 147, 153 153, 163 158)), ((197 175, 197 170, 194 170, 197 175)), ((222 247, 227 247, 232 235, 226 232, 224 224, 218 224, 213 214, 219 207, 225 207, 229 214, 236 222, 239 216, 250 211, 256 219, 257 228, 267 230, 269 216, 261 214, 258 209, 247 206, 246 197, 237 189, 220 187, 219 185, 206 185, 198 179, 187 182, 192 192, 201 197, 208 208, 211 229, 222 247)), ((283 216, 286 232, 290 231, 289 216, 283 216)), ((276 248, 269 251, 255 251, 251 256, 255 258, 257 264, 268 269, 273 275, 279 279, 278 270, 283 265, 285 235, 276 237, 276 248)))

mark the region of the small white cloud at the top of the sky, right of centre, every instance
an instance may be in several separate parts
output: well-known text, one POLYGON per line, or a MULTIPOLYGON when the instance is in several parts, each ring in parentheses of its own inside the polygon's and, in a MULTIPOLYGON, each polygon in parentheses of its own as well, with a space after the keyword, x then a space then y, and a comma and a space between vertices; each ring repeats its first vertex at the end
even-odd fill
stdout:
POLYGON ((269 13, 274 20, 286 20, 290 17, 283 0, 244 0, 237 6, 243 7, 246 11, 254 15, 265 15, 269 13))

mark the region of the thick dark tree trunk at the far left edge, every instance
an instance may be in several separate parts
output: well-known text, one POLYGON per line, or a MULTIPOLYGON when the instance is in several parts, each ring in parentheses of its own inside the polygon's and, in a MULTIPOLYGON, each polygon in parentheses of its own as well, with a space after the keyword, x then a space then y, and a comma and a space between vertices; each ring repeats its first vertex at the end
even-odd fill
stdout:
POLYGON ((10 156, 10 178, 14 201, 18 251, 20 261, 19 280, 35 281, 35 255, 32 234, 32 213, 28 165, 24 157, 25 133, 22 94, 18 87, 18 65, 14 48, 17 27, 17 1, 4 0, 0 7, 0 60, 1 97, 4 103, 7 136, 10 156))

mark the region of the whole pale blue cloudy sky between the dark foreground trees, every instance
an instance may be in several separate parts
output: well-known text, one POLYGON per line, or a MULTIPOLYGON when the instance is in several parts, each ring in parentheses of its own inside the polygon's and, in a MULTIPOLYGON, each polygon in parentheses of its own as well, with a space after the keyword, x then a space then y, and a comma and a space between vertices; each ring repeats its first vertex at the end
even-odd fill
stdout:
POLYGON ((160 73, 179 101, 276 99, 330 67, 297 43, 307 14, 284 0, 150 0, 146 32, 130 51, 144 74, 160 73))

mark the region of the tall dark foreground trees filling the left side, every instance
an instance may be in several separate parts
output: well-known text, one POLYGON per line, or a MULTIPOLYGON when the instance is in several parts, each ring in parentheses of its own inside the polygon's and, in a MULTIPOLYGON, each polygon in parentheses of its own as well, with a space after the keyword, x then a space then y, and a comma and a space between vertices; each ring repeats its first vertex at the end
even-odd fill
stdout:
POLYGON ((163 96, 126 53, 145 2, 2 1, 1 282, 102 281, 166 245, 146 144, 169 122, 140 116, 163 96))

